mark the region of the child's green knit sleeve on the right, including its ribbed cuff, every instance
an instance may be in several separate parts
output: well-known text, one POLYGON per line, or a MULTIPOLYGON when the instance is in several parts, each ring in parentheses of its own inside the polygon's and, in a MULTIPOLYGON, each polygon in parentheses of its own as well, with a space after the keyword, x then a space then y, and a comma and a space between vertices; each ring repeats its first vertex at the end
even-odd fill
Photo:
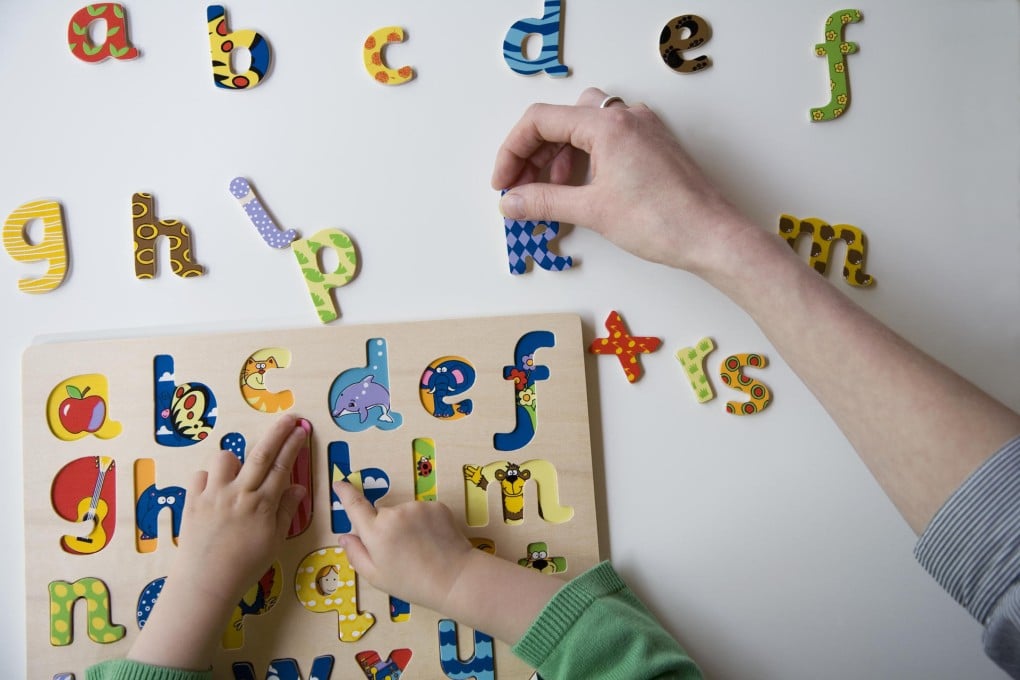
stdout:
POLYGON ((702 677, 608 562, 564 585, 513 652, 543 680, 702 677))

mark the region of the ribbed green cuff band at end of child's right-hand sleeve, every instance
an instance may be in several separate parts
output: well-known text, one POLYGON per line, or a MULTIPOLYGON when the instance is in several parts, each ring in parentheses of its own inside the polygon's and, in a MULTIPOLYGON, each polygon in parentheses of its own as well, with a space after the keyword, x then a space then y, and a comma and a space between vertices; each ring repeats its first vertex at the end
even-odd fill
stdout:
POLYGON ((539 668, 589 607, 626 587, 609 562, 592 567, 553 595, 511 651, 532 668, 539 668))

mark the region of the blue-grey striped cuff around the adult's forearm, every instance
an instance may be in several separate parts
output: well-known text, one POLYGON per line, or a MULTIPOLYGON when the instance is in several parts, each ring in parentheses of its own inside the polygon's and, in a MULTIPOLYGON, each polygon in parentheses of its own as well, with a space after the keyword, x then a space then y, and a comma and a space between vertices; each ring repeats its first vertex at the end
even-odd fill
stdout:
POLYGON ((981 625, 1020 580, 1020 436, 950 496, 914 557, 981 625))

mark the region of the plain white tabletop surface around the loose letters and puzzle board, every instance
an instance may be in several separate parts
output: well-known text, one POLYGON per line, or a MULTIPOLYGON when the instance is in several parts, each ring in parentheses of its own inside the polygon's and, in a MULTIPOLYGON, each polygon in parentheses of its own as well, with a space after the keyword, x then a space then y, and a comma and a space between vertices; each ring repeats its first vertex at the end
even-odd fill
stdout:
POLYGON ((553 80, 519 76, 502 57, 507 29, 540 15, 539 0, 231 3, 232 28, 273 48, 251 92, 213 86, 205 3, 128 2, 142 56, 100 64, 65 45, 80 2, 0 4, 0 213, 58 200, 71 255, 67 280, 42 296, 16 287, 42 265, 0 257, 5 677, 24 673, 24 348, 49 334, 318 324, 293 255, 266 248, 227 192, 237 175, 283 226, 355 239, 362 268, 338 292, 338 323, 574 311, 590 341, 617 309, 634 333, 664 339, 634 385, 612 359, 589 357, 601 538, 711 677, 1003 677, 980 627, 914 563, 911 531, 744 312, 580 227, 559 240, 574 269, 510 276, 489 176, 532 101, 569 103, 589 85, 645 101, 762 228, 788 212, 864 229, 877 285, 851 290, 837 274, 833 284, 1017 408, 1017 4, 852 5, 864 13, 847 36, 860 45, 853 104, 822 124, 808 121, 827 100, 813 48, 844 5, 566 4, 572 72, 553 80), (713 28, 707 71, 680 75, 659 58, 659 32, 681 13, 713 28), (417 79, 386 88, 365 73, 360 46, 394 24, 408 40, 388 59, 417 79), (191 225, 207 275, 170 275, 164 253, 158 279, 135 279, 137 191, 191 225), (771 408, 726 415, 740 396, 717 379, 715 401, 695 401, 672 354, 703 335, 719 348, 712 367, 730 353, 768 356, 758 375, 771 408))

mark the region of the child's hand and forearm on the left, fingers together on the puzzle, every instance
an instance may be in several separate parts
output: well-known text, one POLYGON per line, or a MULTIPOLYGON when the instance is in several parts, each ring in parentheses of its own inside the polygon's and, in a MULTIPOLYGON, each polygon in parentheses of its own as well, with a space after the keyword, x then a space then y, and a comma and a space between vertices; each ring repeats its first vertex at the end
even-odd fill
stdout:
POLYGON ((181 547, 129 659, 209 667, 227 617, 272 564, 304 498, 304 487, 291 484, 291 468, 310 431, 307 421, 284 416, 244 466, 221 451, 208 472, 196 473, 185 503, 181 547))

